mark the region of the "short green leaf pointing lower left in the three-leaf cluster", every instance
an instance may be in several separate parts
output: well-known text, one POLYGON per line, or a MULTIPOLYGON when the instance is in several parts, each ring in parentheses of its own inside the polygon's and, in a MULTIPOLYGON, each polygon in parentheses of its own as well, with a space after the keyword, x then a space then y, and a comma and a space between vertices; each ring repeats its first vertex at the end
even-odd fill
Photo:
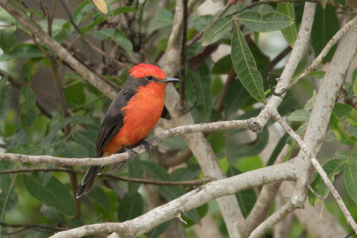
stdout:
POLYGON ((221 39, 227 33, 232 21, 233 19, 227 16, 222 16, 213 21, 202 36, 202 45, 210 45, 221 39))

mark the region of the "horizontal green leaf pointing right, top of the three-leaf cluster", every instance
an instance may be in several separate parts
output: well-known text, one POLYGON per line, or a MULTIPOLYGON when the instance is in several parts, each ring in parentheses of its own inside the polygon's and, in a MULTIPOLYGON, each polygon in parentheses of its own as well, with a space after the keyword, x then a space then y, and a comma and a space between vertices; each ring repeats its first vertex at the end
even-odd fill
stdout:
POLYGON ((258 11, 244 11, 236 17, 244 25, 258 32, 278 31, 295 23, 293 19, 280 12, 262 15, 258 11))

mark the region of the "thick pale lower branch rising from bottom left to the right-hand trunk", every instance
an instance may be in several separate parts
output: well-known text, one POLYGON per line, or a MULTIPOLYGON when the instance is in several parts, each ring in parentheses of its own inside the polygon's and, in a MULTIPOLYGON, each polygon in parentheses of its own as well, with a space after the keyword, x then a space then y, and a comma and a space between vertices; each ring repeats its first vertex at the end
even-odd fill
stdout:
POLYGON ((69 231, 59 232, 51 238, 75 238, 89 236, 91 234, 117 232, 119 237, 137 237, 150 231, 157 225, 176 217, 177 211, 183 213, 197 208, 213 199, 221 196, 235 194, 238 191, 260 186, 262 184, 276 183, 285 180, 294 180, 296 168, 292 163, 286 162, 264 167, 230 178, 214 181, 201 186, 194 191, 154 208, 146 214, 123 223, 103 223, 87 225, 69 231))

